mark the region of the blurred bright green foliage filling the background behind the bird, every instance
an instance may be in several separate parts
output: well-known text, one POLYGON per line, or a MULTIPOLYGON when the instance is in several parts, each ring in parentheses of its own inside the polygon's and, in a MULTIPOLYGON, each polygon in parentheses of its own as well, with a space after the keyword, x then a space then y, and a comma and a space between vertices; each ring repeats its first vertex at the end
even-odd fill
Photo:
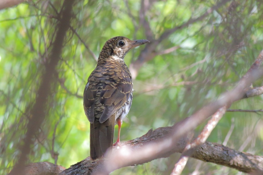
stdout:
MULTIPOLYGON (((200 17, 218 2, 76 1, 57 80, 45 120, 34 138, 30 162, 48 161, 68 168, 89 156, 89 122, 82 95, 96 66, 95 58, 109 38, 126 36, 152 42, 165 31, 200 17)), ((62 4, 60 0, 32 1, 0 11, 0 174, 12 169, 19 154, 30 117, 27 111, 35 102, 62 4)), ((171 126, 231 89, 262 49, 262 13, 260 0, 229 1, 161 39, 153 59, 145 61, 133 77, 134 100, 123 122, 121 141, 140 137, 150 128, 171 126)), ((133 64, 143 49, 128 53, 126 64, 133 64)), ((262 86, 262 79, 254 86, 262 86)), ((262 109, 262 95, 235 102, 231 109, 262 109)), ((208 141, 263 156, 262 126, 262 113, 227 112, 208 141)), ((195 135, 202 128, 197 127, 195 135)), ((170 174, 179 156, 111 174, 170 174)), ((194 171, 242 174, 190 159, 183 174, 194 171)))

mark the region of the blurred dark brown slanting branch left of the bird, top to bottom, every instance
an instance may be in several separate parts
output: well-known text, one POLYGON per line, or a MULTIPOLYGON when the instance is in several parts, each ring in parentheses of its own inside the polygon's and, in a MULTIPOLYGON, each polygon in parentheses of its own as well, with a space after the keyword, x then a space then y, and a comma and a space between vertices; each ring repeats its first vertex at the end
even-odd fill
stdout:
POLYGON ((33 137, 38 132, 40 125, 46 116, 46 105, 48 102, 48 97, 51 93, 51 84, 54 82, 53 75, 56 73, 55 68, 58 64, 62 52, 64 38, 69 28, 68 26, 72 17, 71 12, 73 2, 74 1, 64 1, 64 8, 62 8, 62 21, 58 24, 58 30, 51 53, 48 60, 44 64, 45 71, 41 77, 42 81, 37 91, 36 102, 32 109, 30 108, 31 110, 28 112, 30 114, 30 118, 27 124, 26 136, 21 141, 21 145, 19 147, 20 155, 14 168, 9 173, 10 175, 23 174, 24 165, 28 160, 27 156, 31 151, 31 145, 34 141, 33 137))

